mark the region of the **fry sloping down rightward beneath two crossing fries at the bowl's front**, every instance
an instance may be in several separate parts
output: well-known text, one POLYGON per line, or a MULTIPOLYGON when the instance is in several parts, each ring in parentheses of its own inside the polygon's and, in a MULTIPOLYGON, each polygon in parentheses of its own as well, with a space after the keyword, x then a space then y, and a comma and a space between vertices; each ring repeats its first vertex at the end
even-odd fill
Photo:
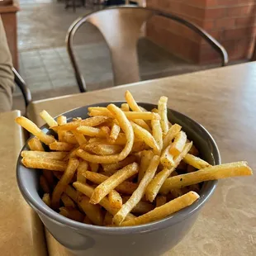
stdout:
MULTIPOLYGON (((75 187, 78 192, 82 192, 87 197, 92 197, 92 193, 94 192, 93 187, 90 187, 88 184, 75 182, 75 183, 73 183, 73 187, 75 187)), ((100 201, 99 204, 102 207, 104 207, 107 211, 109 211, 111 213, 111 215, 115 215, 116 212, 119 210, 119 208, 115 208, 110 205, 107 197, 102 198, 102 201, 100 201)), ((133 216, 132 214, 127 216, 127 219, 129 219, 129 220, 132 218, 135 218, 135 216, 133 216)))

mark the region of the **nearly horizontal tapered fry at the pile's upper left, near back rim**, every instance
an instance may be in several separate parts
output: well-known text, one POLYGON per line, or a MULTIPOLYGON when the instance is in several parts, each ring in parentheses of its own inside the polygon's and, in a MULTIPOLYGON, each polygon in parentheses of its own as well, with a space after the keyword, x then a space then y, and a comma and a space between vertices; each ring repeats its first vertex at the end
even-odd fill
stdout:
POLYGON ((85 120, 72 121, 62 126, 50 127, 53 130, 76 130, 79 126, 99 126, 109 120, 107 116, 93 116, 85 120))

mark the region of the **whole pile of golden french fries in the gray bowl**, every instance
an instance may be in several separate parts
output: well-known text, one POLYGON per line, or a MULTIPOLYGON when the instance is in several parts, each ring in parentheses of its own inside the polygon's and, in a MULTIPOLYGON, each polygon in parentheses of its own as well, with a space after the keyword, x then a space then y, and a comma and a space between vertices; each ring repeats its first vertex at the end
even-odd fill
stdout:
POLYGON ((246 162, 211 166, 200 159, 182 127, 168 121, 167 97, 151 111, 129 91, 125 97, 121 107, 89 107, 84 120, 40 112, 55 137, 17 117, 35 135, 21 162, 41 169, 42 200, 60 215, 90 225, 142 225, 197 201, 202 182, 252 174, 246 162))

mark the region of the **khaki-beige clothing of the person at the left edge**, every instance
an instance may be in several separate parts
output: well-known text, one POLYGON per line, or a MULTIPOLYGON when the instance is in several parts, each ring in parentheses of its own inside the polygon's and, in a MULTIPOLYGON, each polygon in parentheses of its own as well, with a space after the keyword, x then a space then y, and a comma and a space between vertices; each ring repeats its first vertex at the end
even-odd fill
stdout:
POLYGON ((12 55, 0 17, 0 112, 12 110, 12 92, 15 88, 12 73, 12 55))

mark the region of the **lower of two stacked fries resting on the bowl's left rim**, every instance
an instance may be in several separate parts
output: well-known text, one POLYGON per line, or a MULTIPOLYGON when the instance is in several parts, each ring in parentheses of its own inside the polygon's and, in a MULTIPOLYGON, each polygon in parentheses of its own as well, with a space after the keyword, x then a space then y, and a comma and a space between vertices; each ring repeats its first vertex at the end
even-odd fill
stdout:
POLYGON ((54 159, 23 158, 21 160, 21 163, 26 168, 40 168, 59 172, 64 172, 64 170, 67 168, 66 162, 54 159))

